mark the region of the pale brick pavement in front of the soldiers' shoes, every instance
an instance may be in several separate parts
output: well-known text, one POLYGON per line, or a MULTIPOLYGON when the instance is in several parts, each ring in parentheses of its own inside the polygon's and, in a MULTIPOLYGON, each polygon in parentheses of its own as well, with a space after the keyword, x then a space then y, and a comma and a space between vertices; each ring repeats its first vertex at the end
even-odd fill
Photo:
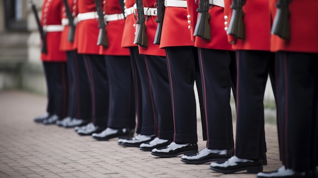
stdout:
MULTIPOLYGON (((46 98, 22 91, 0 91, 0 177, 256 177, 215 173, 209 164, 187 165, 176 158, 156 158, 138 148, 123 148, 117 139, 96 141, 70 128, 33 122, 44 113, 46 98)), ((202 140, 198 121, 199 149, 202 140)), ((234 123, 235 128, 235 123, 234 123)), ((266 124, 268 166, 278 157, 275 125, 266 124)))

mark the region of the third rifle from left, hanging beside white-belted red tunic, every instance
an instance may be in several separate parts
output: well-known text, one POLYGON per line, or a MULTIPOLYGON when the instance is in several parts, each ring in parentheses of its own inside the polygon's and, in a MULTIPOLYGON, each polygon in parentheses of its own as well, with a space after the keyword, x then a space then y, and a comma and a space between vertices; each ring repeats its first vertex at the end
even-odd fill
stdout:
POLYGON ((95 5, 96 5, 96 11, 98 14, 98 19, 99 19, 99 28, 100 31, 98 33, 98 40, 97 40, 97 45, 102 45, 104 47, 108 47, 108 39, 106 36, 106 22, 104 20, 104 14, 102 10, 102 5, 100 0, 95 0, 95 5))

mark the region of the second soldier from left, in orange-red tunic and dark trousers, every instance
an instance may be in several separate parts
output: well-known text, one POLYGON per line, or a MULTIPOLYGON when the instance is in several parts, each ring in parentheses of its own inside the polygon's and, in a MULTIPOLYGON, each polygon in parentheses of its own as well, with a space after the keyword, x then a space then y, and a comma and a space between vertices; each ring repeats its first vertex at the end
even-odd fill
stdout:
MULTIPOLYGON (((73 17, 74 26, 77 23, 77 1, 68 0, 68 8, 70 9, 71 16, 73 17)), ((64 3, 63 3, 64 5, 64 3)), ((66 6, 63 6, 63 19, 62 25, 64 29, 61 34, 60 50, 66 52, 68 78, 70 83, 69 92, 69 106, 68 117, 63 120, 57 121, 58 126, 76 127, 86 125, 91 117, 91 101, 89 83, 86 74, 86 69, 83 60, 79 60, 81 55, 78 55, 77 49, 74 47, 74 41, 69 41, 70 22, 66 13, 66 6)), ((75 35, 75 31, 73 33, 75 35)), ((73 36, 74 38, 74 36, 73 36)), ((74 39, 72 39, 74 40, 74 39)))

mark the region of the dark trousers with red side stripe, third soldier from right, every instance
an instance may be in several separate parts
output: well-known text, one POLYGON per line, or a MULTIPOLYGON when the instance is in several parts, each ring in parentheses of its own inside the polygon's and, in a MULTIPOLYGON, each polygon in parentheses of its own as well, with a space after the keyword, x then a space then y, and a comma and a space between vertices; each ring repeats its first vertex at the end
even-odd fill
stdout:
POLYGON ((235 54, 230 53, 235 52, 199 48, 208 149, 234 148, 230 99, 231 72, 235 76, 236 70, 230 71, 231 62, 235 63, 235 54))

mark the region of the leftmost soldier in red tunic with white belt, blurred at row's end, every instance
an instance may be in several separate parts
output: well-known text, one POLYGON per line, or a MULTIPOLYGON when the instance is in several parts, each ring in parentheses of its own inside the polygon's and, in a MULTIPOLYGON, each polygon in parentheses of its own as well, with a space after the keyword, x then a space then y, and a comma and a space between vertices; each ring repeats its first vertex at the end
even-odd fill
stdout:
POLYGON ((35 122, 55 124, 67 115, 68 78, 65 52, 59 50, 62 19, 62 1, 45 0, 42 7, 41 24, 46 38, 47 53, 41 60, 47 84, 47 113, 35 118, 35 122))

